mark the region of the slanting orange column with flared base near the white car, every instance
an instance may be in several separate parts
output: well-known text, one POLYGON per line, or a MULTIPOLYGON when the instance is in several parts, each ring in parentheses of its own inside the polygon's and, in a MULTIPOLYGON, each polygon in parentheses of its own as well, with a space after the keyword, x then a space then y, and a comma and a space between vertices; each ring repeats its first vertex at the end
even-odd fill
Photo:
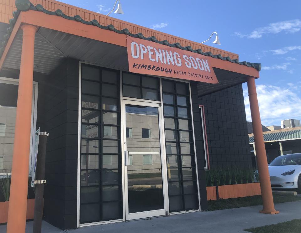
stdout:
POLYGON ((263 202, 263 210, 259 211, 263 214, 278 214, 279 211, 275 210, 274 200, 272 195, 270 174, 267 166, 267 154, 264 146, 258 99, 256 93, 255 78, 249 77, 247 80, 250 109, 255 141, 255 149, 257 156, 257 166, 260 179, 261 196, 263 202))

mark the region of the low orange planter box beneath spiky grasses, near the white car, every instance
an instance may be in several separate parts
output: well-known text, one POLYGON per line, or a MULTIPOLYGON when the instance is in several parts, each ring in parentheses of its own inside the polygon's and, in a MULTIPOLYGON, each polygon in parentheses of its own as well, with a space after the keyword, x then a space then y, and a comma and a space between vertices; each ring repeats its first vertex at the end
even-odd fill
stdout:
MULTIPOLYGON (((216 200, 215 186, 209 186, 206 188, 207 200, 216 200)), ((261 195, 260 183, 220 185, 218 186, 218 190, 220 199, 261 195)))

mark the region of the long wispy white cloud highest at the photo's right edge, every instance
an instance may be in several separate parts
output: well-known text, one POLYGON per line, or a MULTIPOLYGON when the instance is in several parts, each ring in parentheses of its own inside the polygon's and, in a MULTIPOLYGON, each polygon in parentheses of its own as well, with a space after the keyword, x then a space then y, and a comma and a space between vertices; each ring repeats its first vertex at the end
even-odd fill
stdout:
POLYGON ((242 34, 240 32, 235 32, 234 35, 240 38, 247 37, 251 39, 261 38, 264 34, 277 34, 280 32, 285 33, 295 33, 301 29, 301 20, 294 19, 288 21, 282 21, 277 23, 270 23, 269 25, 261 28, 256 28, 250 34, 242 34))

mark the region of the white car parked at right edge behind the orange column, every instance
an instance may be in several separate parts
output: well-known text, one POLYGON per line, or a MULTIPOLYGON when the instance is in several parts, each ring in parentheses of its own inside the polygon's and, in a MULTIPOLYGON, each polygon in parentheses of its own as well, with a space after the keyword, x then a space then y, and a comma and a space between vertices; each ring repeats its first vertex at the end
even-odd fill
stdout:
POLYGON ((281 155, 269 164, 272 189, 297 189, 301 193, 301 153, 281 155))

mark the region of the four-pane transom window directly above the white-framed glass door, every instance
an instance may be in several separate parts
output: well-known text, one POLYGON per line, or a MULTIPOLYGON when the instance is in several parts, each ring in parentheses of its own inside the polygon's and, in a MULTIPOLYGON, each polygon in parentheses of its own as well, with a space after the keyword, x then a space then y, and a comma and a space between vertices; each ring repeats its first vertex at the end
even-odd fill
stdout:
POLYGON ((159 78, 123 72, 123 96, 160 101, 159 81, 159 78))

